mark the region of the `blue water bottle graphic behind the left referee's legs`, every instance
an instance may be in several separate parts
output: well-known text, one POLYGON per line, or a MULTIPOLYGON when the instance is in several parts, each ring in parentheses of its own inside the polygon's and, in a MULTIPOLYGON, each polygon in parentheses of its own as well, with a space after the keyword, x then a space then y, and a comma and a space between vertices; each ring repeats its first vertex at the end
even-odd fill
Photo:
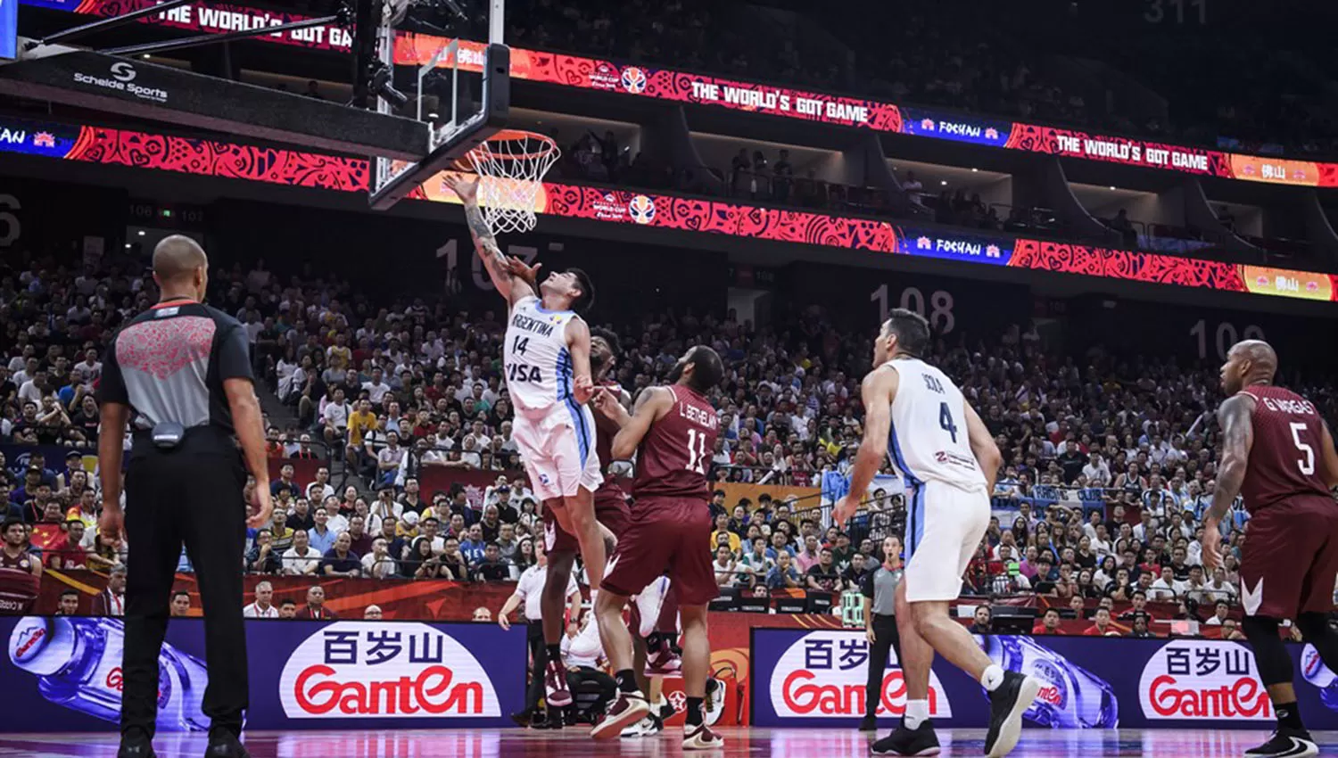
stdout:
MULTIPOLYGON (((9 660, 36 674, 37 691, 52 703, 119 722, 124 640, 119 619, 25 616, 9 635, 9 660)), ((165 643, 158 668, 158 730, 207 730, 205 664, 165 643)))

